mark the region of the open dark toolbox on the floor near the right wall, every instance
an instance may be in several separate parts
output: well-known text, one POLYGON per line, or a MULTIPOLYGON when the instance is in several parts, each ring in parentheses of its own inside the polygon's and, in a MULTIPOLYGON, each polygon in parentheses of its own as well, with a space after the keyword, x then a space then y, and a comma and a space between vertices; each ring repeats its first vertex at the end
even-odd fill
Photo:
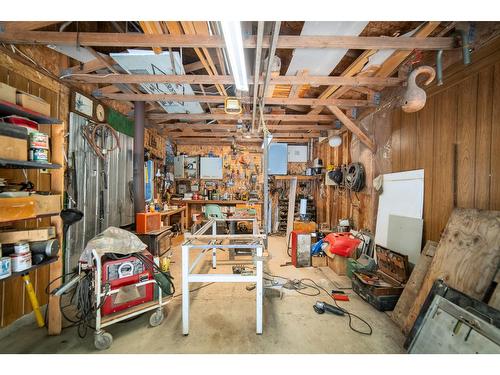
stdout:
POLYGON ((408 257, 376 245, 378 269, 356 271, 352 289, 379 311, 394 310, 408 280, 408 257))

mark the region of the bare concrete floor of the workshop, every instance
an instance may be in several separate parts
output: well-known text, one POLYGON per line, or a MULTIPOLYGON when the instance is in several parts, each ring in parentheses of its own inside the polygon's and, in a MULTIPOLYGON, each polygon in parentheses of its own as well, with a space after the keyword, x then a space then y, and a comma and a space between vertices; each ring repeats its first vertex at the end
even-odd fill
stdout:
MULTIPOLYGON (((177 241, 179 243, 179 241, 177 241)), ((281 267, 288 260, 284 237, 269 239, 270 261, 265 270, 293 279, 311 278, 327 290, 350 286, 346 277, 337 276, 330 268, 281 267)), ((172 274, 180 292, 180 246, 174 246, 172 274)), ((220 259, 227 259, 222 252, 220 259)), ((210 270, 210 257, 200 269, 210 270)), ((231 266, 219 266, 216 272, 231 266)), ((210 270, 214 272, 214 270, 210 270)), ((194 289, 197 285, 191 284, 194 289)), ((0 353, 403 353, 404 337, 385 314, 375 310, 348 290, 350 302, 341 306, 361 316, 373 327, 371 336, 349 329, 348 318, 330 314, 318 315, 312 305, 317 300, 329 301, 326 294, 309 297, 285 290, 280 299, 269 293, 264 299, 264 333, 255 334, 255 291, 245 284, 213 284, 191 294, 190 334, 181 331, 181 298, 168 306, 168 315, 155 328, 148 325, 149 313, 126 323, 107 328, 114 342, 110 349, 94 348, 89 331, 80 339, 75 328, 65 329, 60 336, 49 337, 33 322, 17 324, 3 334, 0 331, 0 353)), ((366 329, 354 322, 359 329, 366 329)))

